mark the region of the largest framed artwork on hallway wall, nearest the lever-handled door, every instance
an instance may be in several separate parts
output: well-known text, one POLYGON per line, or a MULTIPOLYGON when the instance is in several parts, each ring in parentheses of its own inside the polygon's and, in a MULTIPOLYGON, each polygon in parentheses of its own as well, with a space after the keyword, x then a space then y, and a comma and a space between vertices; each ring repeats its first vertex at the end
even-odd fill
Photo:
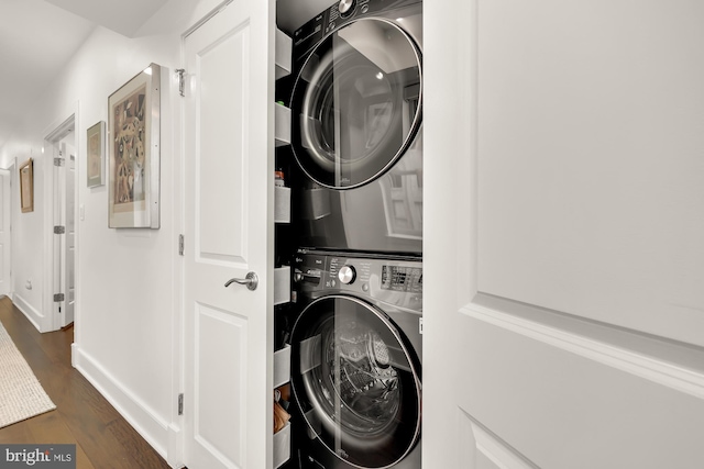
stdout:
POLYGON ((108 226, 160 227, 162 67, 150 64, 108 98, 108 226))

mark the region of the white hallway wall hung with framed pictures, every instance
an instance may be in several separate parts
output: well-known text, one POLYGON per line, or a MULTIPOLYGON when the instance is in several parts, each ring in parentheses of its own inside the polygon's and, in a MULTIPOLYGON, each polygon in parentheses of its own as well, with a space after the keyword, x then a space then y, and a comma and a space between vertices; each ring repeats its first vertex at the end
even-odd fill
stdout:
MULTIPOLYGON (((77 214, 74 365, 167 460, 177 466, 180 390, 182 227, 179 99, 175 69, 180 35, 218 4, 174 0, 136 38, 98 26, 41 99, 19 115, 0 148, 0 167, 35 158, 35 210, 13 208, 14 300, 34 322, 51 314, 51 189, 53 155, 44 137, 76 116, 77 214), (161 109, 161 228, 108 228, 108 187, 86 187, 86 131, 108 121, 108 97, 150 63, 166 67, 161 109), (48 217, 48 220, 47 220, 48 217), (32 290, 25 289, 31 280, 32 290), (38 317, 38 320, 37 320, 38 317)), ((107 163, 107 161, 106 161, 107 163)), ((107 178, 106 178, 107 180, 107 178)), ((19 189, 14 188, 15 192, 19 189)), ((15 194, 16 196, 16 194, 15 194)), ((40 324, 36 324, 40 327, 40 324)))

